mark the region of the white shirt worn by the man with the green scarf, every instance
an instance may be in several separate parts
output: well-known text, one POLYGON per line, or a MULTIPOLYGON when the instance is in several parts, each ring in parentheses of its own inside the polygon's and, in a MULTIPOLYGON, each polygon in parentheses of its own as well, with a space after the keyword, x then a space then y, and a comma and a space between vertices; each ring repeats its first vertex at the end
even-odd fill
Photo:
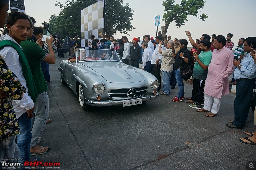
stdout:
MULTIPOLYGON (((19 45, 14 39, 12 39, 12 37, 7 34, 0 37, 0 41, 4 39, 11 40, 12 42, 19 45)), ((23 50, 21 47, 20 49, 23 50)), ((12 72, 18 77, 20 83, 26 88, 26 93, 24 93, 21 100, 12 100, 12 106, 18 119, 23 113, 26 112, 26 110, 32 109, 34 107, 34 102, 28 95, 28 86, 22 72, 20 58, 17 51, 11 46, 6 46, 0 50, 0 54, 4 58, 4 61, 10 70, 12 70, 12 72)))

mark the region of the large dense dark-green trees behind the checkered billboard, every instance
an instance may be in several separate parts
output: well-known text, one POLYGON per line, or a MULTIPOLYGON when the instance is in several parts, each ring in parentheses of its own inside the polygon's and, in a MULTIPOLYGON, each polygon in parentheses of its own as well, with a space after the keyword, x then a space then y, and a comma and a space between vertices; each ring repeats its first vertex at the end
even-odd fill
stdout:
MULTIPOLYGON (((113 35, 116 31, 128 34, 134 29, 132 26, 133 10, 129 4, 123 6, 123 0, 105 0, 105 26, 107 35, 113 35)), ((81 10, 96 3, 92 0, 66 0, 65 4, 56 0, 55 6, 60 6, 62 12, 59 16, 51 15, 50 29, 61 36, 70 34, 70 37, 81 35, 81 10)))

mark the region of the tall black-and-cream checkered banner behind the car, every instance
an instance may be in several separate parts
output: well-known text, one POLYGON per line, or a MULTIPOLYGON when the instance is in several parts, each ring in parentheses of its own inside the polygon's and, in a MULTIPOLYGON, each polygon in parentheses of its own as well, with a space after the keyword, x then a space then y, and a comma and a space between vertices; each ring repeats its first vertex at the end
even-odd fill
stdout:
POLYGON ((91 35, 101 39, 104 32, 104 0, 81 10, 81 48, 89 48, 91 35))

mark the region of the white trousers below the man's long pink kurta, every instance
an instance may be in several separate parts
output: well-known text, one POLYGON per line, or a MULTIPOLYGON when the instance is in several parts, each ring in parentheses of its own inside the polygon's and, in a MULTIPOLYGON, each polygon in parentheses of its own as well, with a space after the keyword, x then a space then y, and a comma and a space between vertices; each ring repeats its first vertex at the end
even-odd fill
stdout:
POLYGON ((204 109, 211 110, 213 114, 217 114, 220 110, 221 98, 212 97, 210 95, 204 94, 204 109), (212 99, 213 104, 212 104, 212 99))

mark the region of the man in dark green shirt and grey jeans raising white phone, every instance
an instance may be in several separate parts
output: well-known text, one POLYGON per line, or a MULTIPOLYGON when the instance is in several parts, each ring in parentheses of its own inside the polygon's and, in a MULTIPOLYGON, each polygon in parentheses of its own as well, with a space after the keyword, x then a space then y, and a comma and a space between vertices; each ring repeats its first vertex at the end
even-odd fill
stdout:
POLYGON ((50 151, 48 147, 39 146, 40 135, 42 134, 46 121, 49 116, 49 98, 46 93, 47 84, 44 80, 44 74, 41 68, 41 60, 55 64, 55 54, 52 49, 53 38, 47 38, 46 43, 49 46, 49 54, 47 54, 40 45, 42 38, 39 38, 36 42, 31 39, 33 35, 33 29, 31 29, 26 41, 22 41, 20 46, 23 48, 23 52, 28 60, 29 67, 31 69, 38 97, 35 102, 35 114, 32 119, 32 139, 30 143, 30 156, 44 154, 50 151))

